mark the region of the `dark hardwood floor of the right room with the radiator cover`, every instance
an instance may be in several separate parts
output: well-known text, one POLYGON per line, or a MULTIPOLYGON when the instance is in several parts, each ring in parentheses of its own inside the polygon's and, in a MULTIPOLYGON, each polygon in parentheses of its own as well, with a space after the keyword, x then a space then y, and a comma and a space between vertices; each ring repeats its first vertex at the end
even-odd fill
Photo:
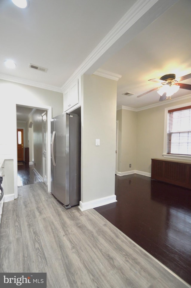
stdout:
POLYGON ((191 284, 191 190, 133 174, 116 176, 115 194, 95 210, 191 284))

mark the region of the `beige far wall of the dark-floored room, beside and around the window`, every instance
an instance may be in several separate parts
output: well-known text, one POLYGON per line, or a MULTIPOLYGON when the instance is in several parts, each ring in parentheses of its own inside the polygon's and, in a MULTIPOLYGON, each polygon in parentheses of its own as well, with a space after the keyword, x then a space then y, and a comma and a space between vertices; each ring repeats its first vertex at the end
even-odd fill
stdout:
POLYGON ((135 170, 151 173, 151 158, 164 159, 162 154, 165 108, 189 102, 191 97, 180 101, 167 101, 167 104, 138 112, 125 109, 117 111, 119 135, 121 133, 118 142, 118 150, 121 150, 118 151, 118 172, 135 170), (129 163, 133 163, 131 169, 129 163))

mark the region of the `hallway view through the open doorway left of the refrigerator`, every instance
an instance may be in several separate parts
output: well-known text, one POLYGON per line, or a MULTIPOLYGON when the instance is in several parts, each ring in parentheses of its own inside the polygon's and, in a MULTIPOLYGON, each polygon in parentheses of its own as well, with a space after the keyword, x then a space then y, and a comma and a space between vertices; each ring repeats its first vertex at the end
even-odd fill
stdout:
POLYGON ((47 110, 37 107, 16 105, 17 112, 17 142, 22 142, 21 148, 23 158, 20 160, 21 152, 17 151, 19 165, 17 169, 17 186, 44 182, 48 185, 48 161, 47 161, 47 110), (45 115, 46 124, 42 117, 45 115), (45 129, 46 127, 46 129, 45 129), (23 128, 23 141, 20 140, 20 131, 23 128), (28 151, 28 161, 25 161, 25 153, 28 151), (46 157, 44 157, 46 151, 46 157), (44 163, 45 162, 45 163, 44 163), (45 168, 46 167, 46 168, 45 168))

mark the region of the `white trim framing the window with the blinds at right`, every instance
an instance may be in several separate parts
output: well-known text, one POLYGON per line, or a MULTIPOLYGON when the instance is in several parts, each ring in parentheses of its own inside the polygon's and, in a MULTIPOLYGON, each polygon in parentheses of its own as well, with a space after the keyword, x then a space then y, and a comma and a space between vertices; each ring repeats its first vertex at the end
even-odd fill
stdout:
POLYGON ((167 154, 167 121, 168 121, 168 110, 177 109, 181 107, 191 106, 191 102, 180 104, 177 106, 170 106, 164 108, 164 142, 163 142, 163 157, 164 158, 172 158, 172 159, 183 159, 190 160, 191 156, 189 155, 181 155, 181 154, 167 154))

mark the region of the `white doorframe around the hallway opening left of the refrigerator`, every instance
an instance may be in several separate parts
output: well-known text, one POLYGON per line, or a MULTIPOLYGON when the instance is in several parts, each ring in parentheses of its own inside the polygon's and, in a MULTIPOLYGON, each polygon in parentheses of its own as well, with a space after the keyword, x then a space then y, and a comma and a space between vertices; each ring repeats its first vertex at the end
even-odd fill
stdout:
MULTIPOLYGON (((40 109, 40 110, 46 110, 47 111, 47 188, 48 188, 48 192, 51 192, 50 189, 50 175, 51 175, 51 158, 50 158, 50 141, 48 141, 48 139, 50 139, 50 133, 51 133, 51 127, 50 127, 50 122, 52 119, 52 107, 51 106, 34 106, 33 105, 24 105, 23 103, 16 103, 15 104, 15 119, 17 120, 17 115, 16 115, 16 106, 22 106, 22 107, 30 107, 30 108, 34 108, 34 109, 40 109)), ((15 121, 16 123, 16 121, 15 121)), ((15 124, 16 126, 16 124, 15 124)), ((15 132, 15 137, 17 137, 17 133, 15 132)), ((15 138, 15 143, 17 145, 17 139, 15 138)), ((15 145, 15 155, 14 155, 14 198, 18 198, 18 186, 17 186, 17 173, 18 173, 18 168, 17 168, 17 148, 15 145)))

